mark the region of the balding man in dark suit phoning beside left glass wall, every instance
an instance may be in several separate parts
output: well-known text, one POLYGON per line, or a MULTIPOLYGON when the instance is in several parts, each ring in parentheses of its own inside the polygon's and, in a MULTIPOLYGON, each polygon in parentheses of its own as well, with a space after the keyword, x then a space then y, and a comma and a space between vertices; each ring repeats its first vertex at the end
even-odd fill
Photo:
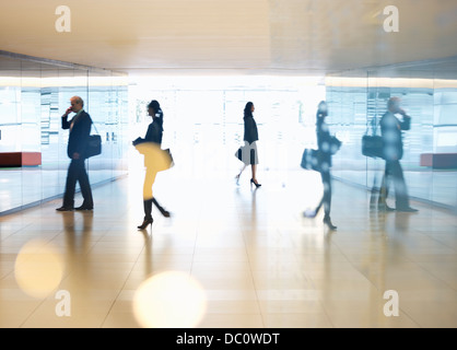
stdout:
POLYGON ((67 108, 66 113, 62 115, 62 129, 70 130, 67 154, 71 159, 71 162, 67 174, 63 205, 57 210, 93 210, 94 201, 92 198, 91 184, 84 164, 86 159, 85 149, 91 135, 92 119, 91 116, 84 112, 84 102, 80 96, 71 97, 70 103, 71 106, 67 108), (75 113, 75 116, 69 121, 68 116, 70 113, 75 113), (79 208, 74 208, 77 182, 80 183, 81 192, 84 198, 82 206, 79 208))

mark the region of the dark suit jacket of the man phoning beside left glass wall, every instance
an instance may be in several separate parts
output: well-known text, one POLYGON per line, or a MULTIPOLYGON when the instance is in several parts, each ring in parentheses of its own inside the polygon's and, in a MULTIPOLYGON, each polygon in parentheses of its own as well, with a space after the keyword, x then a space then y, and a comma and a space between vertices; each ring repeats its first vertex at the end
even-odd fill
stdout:
POLYGON ((80 115, 74 116, 70 121, 67 117, 62 117, 62 129, 70 129, 68 138, 67 154, 73 159, 73 153, 79 153, 81 159, 85 159, 85 149, 91 135, 92 119, 91 116, 82 110, 80 115), (73 124, 73 126, 71 126, 73 124))

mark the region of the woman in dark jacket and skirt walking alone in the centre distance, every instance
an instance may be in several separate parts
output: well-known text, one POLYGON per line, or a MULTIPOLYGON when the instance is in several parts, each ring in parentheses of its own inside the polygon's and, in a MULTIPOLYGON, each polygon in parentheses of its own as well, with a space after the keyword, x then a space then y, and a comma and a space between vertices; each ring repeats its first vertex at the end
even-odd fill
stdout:
POLYGON ((245 147, 243 149, 242 161, 244 166, 239 171, 239 174, 236 175, 236 183, 239 182, 239 177, 242 176, 243 171, 246 166, 250 165, 253 176, 250 178, 250 184, 255 185, 256 188, 260 187, 261 185, 258 183, 256 177, 257 172, 257 164, 259 164, 259 159, 257 154, 257 143, 256 141, 259 140, 257 124, 254 119, 253 113, 255 110, 254 104, 248 102, 244 109, 244 141, 245 147))

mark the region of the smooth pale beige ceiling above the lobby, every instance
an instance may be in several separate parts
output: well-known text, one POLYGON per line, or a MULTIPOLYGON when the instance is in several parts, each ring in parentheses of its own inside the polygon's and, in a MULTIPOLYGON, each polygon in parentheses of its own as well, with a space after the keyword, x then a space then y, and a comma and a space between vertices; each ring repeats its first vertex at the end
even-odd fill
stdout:
POLYGON ((315 75, 457 57, 457 0, 0 3, 0 50, 132 74, 315 75), (63 3, 70 33, 55 28, 63 3), (383 10, 391 4, 399 9, 399 33, 383 28, 383 10))

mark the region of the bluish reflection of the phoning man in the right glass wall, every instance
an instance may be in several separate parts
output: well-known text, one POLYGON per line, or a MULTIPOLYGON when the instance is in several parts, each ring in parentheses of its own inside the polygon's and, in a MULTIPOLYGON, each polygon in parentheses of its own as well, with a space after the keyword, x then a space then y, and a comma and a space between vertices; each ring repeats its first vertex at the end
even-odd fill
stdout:
POLYGON ((403 211, 415 212, 409 205, 409 196, 407 185, 405 183, 403 170, 400 165, 400 160, 403 156, 403 141, 401 131, 411 128, 411 117, 409 117, 400 107, 400 98, 391 97, 387 102, 387 112, 380 118, 380 132, 383 137, 383 153, 386 160, 386 170, 380 186, 380 194, 378 199, 378 209, 386 211, 403 211), (395 115, 400 114, 402 120, 400 121, 395 115), (396 208, 387 206, 388 187, 390 178, 395 186, 396 208))

